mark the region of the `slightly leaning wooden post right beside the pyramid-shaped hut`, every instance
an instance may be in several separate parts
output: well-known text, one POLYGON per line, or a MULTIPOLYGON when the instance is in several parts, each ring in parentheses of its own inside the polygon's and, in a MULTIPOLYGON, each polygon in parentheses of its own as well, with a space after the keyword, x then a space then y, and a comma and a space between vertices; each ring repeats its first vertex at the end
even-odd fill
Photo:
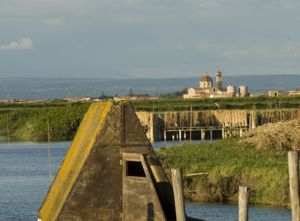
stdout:
POLYGON ((175 200, 176 220, 185 221, 185 207, 182 189, 182 173, 181 169, 172 169, 172 183, 175 200))

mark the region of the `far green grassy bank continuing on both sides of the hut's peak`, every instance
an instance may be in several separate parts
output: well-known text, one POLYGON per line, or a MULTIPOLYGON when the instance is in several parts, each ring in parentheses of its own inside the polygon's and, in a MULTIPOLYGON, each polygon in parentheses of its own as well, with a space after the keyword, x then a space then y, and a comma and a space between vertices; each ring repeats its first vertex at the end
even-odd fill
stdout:
MULTIPOLYGON (((181 98, 137 100, 136 111, 180 111, 215 109, 299 108, 300 97, 246 97, 189 99, 181 98)), ((72 139, 89 103, 39 101, 31 103, 0 103, 0 136, 9 134, 17 140, 46 140, 49 121, 52 140, 72 139), (7 127, 8 124, 8 127, 7 127)))

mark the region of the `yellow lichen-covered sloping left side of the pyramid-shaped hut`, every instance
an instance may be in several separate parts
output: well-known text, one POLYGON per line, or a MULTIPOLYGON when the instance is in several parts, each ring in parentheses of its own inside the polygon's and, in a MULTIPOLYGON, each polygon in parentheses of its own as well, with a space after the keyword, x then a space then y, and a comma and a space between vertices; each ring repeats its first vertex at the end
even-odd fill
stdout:
POLYGON ((88 110, 39 211, 42 220, 56 220, 59 216, 111 106, 93 104, 88 110))

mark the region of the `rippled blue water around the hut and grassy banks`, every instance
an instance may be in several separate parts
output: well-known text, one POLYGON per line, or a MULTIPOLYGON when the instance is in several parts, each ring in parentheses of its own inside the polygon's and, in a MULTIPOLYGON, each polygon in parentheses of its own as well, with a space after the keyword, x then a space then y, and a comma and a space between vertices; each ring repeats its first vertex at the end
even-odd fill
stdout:
MULTIPOLYGON (((54 173, 69 145, 70 142, 51 144, 54 173)), ((0 221, 36 220, 37 210, 50 185, 47 148, 46 143, 0 144, 0 221)), ((187 213, 207 221, 237 220, 235 205, 188 203, 187 213)), ((291 217, 286 209, 251 207, 250 220, 288 221, 291 217)))

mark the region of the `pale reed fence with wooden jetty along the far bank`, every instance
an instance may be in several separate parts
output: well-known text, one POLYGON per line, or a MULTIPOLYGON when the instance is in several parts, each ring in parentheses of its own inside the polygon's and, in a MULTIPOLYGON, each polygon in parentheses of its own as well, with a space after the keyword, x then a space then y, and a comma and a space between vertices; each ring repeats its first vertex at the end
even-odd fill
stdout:
POLYGON ((242 136, 266 123, 300 118, 300 109, 137 112, 151 141, 216 140, 242 136))

